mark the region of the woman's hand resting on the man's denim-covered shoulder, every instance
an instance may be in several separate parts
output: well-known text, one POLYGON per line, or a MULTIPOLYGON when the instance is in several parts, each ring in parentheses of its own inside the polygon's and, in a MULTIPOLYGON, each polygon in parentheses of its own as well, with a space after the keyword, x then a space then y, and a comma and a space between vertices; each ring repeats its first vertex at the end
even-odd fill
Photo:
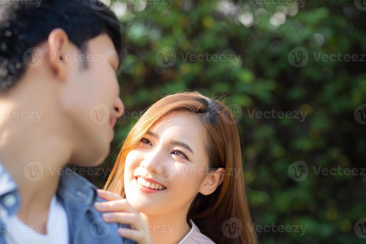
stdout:
POLYGON ((104 213, 102 217, 109 222, 131 226, 131 229, 120 228, 118 230, 120 236, 134 240, 137 244, 153 244, 150 232, 146 229, 145 220, 131 207, 126 198, 102 189, 97 191, 98 196, 108 202, 96 202, 94 208, 100 212, 114 212, 104 213))

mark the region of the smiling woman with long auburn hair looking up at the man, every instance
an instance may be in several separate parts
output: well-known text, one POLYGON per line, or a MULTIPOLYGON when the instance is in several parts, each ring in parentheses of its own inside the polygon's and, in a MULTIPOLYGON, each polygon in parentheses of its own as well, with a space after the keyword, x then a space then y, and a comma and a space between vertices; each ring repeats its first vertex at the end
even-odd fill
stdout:
POLYGON ((153 104, 128 134, 98 203, 137 243, 257 243, 238 129, 230 110, 197 92, 153 104), (113 192, 113 193, 111 193, 113 192), (127 200, 128 202, 127 202, 127 200))

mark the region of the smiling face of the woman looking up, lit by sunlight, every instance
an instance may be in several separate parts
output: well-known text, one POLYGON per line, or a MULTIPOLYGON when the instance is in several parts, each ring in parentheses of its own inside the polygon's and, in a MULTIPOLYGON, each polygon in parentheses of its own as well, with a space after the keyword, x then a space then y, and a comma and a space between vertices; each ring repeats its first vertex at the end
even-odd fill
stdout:
POLYGON ((144 214, 188 210, 206 177, 207 166, 205 137, 197 117, 173 111, 127 154, 126 198, 144 214))

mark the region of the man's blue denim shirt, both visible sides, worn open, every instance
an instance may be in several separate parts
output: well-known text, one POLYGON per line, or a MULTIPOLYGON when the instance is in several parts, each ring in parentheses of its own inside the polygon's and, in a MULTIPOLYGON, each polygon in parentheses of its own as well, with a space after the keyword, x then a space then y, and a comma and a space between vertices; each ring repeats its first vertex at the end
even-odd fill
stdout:
MULTIPOLYGON (((72 169, 64 168, 56 192, 57 201, 64 207, 68 217, 69 243, 79 244, 134 244, 122 238, 117 229, 120 225, 107 224, 102 213, 94 209, 94 202, 104 201, 97 197, 96 187, 72 169)), ((17 186, 10 174, 0 164, 0 244, 5 244, 4 234, 8 229, 1 216, 12 216, 20 207, 17 186)), ((128 227, 122 225, 121 227, 128 227)))

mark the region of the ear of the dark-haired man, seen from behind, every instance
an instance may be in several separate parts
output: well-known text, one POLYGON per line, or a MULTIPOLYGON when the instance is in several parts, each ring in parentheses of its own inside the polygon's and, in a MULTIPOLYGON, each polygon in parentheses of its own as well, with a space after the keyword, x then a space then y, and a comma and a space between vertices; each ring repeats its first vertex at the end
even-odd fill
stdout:
POLYGON ((64 57, 68 44, 68 36, 63 29, 54 29, 48 36, 51 66, 60 80, 66 79, 66 61, 64 57))

